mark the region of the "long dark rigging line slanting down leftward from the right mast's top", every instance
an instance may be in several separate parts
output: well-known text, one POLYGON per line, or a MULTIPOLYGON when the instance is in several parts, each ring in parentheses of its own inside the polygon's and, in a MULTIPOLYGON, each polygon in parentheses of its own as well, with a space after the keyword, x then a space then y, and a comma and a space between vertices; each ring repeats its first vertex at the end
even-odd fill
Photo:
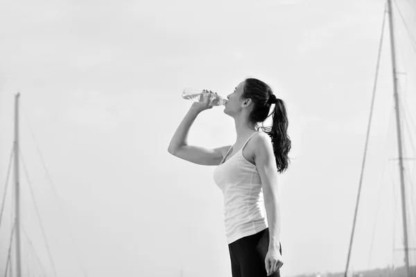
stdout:
POLYGON ((349 266, 349 258, 351 256, 351 250, 352 250, 352 242, 354 240, 354 231, 356 226, 356 219, 358 214, 358 205, 360 203, 360 196, 361 196, 361 187, 363 185, 363 175, 364 175, 364 168, 365 168, 365 159, 367 158, 367 148, 368 148, 368 141, 370 139, 370 129, 371 129, 371 123, 372 123, 372 114, 374 110, 374 99, 376 98, 376 87, 377 87, 377 80, 379 79, 379 66, 380 66, 380 60, 381 60, 381 49, 383 46, 383 37, 384 37, 384 26, 385 26, 385 14, 387 13, 387 3, 385 3, 384 6, 384 12, 383 12, 383 24, 381 26, 381 36, 380 36, 380 42, 379 42, 379 53, 377 57, 377 63, 376 63, 376 73, 374 76, 374 87, 372 91, 372 100, 370 105, 370 116, 368 118, 368 126, 367 126, 367 134, 365 137, 365 147, 364 147, 364 154, 363 154, 363 162, 361 164, 361 175, 360 175, 360 181, 358 185, 358 194, 357 194, 357 200, 356 200, 356 208, 354 211, 354 220, 352 224, 352 233, 351 238, 349 241, 349 249, 348 249, 348 256, 347 256, 347 266, 345 267, 345 274, 344 276, 347 277, 348 272, 348 266, 349 266))

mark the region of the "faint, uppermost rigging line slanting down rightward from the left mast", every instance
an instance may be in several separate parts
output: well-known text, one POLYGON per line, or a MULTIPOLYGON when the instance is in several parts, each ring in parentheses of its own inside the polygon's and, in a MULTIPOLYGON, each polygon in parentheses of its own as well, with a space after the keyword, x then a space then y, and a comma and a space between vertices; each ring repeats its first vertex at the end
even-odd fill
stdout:
MULTIPOLYGON (((21 102, 19 103, 19 105, 21 105, 21 102)), ((78 258, 78 262, 80 263, 80 267, 81 267, 81 270, 83 271, 83 275, 84 275, 85 277, 87 277, 87 269, 85 268, 85 265, 84 265, 83 259, 80 257, 80 254, 79 254, 79 253, 80 253, 80 251, 79 251, 79 249, 78 249, 78 244, 75 242, 75 240, 74 240, 74 238, 73 238, 73 233, 72 233, 71 226, 70 226, 70 225, 69 225, 69 223, 68 223, 67 216, 66 216, 66 214, 64 213, 64 208, 62 208, 62 204, 60 203, 60 198, 58 197, 58 193, 56 193, 56 190, 55 190, 55 184, 53 184, 53 181, 52 181, 51 175, 49 174, 49 170, 48 170, 48 168, 46 167, 46 162, 44 161, 44 158, 43 158, 42 152, 40 151, 40 147, 39 147, 39 145, 37 144, 37 141, 36 141, 36 139, 35 139, 35 134, 34 134, 33 129, 32 129, 32 127, 31 127, 31 122, 30 122, 30 121, 29 121, 29 119, 28 119, 28 116, 27 116, 27 114, 26 114, 26 111, 25 111, 25 108, 24 108, 24 106, 23 106, 23 105, 21 105, 21 108, 22 108, 21 110, 23 111, 24 117, 26 118, 26 122, 28 123, 28 128, 29 128, 29 131, 30 131, 30 133, 31 133, 32 139, 33 139, 33 141, 34 141, 34 143, 35 143, 35 147, 36 147, 36 150, 37 150, 37 154, 39 154, 40 161, 41 161, 42 166, 43 166, 43 168, 44 168, 44 170, 45 170, 45 172, 46 172, 46 179, 48 179, 48 181, 49 181, 49 186, 51 186, 51 190, 52 190, 53 196, 55 197, 56 203, 58 204, 58 207, 59 207, 59 209, 60 209, 60 213, 62 213, 62 219, 63 219, 63 221, 64 221, 65 227, 66 227, 67 232, 68 232, 68 234, 69 234, 69 238, 70 238, 70 240, 71 240, 71 242, 72 242, 73 247, 74 247, 74 248, 75 248, 75 250, 76 250, 76 255, 75 255, 75 256, 76 256, 76 258, 78 258), (77 255, 77 254, 78 254, 78 255, 77 255)))

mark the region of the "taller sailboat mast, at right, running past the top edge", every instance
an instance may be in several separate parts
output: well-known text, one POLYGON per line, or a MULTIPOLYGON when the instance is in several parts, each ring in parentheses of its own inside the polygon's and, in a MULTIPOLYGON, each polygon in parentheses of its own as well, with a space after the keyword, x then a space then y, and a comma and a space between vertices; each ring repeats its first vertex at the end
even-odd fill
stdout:
POLYGON ((407 276, 410 277, 409 269, 409 253, 408 253, 408 235, 407 235, 407 219, 406 219, 406 200, 404 188, 404 166, 403 166, 403 151, 401 145, 401 127, 400 127, 400 112, 399 112, 399 94, 397 93, 397 75, 396 75, 396 54, 395 54, 395 35, 393 28, 393 10, 392 1, 388 0, 388 17, 390 23, 390 44, 392 51, 392 71, 393 71, 393 85, 395 89, 395 106, 396 106, 396 126, 397 126, 397 145, 399 147, 399 172, 400 172, 400 188, 401 188, 401 212, 403 216, 403 233, 404 233, 404 262, 406 264, 407 276))

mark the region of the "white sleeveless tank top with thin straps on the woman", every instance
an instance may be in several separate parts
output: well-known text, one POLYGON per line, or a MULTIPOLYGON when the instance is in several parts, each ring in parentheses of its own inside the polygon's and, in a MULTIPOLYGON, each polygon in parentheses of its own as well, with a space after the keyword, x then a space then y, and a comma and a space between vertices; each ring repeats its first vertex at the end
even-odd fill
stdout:
MULTIPOLYGON (((254 134, 257 134, 255 132, 254 134)), ((243 147, 214 170, 214 181, 224 195, 224 223, 228 244, 268 228, 257 166, 243 156, 243 147)))

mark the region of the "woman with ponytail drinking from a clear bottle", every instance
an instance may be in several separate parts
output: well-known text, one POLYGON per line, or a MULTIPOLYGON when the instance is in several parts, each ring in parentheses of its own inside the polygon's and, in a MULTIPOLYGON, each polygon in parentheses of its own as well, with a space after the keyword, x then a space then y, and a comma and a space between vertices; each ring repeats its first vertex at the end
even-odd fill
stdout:
POLYGON ((214 181, 224 194, 225 232, 233 277, 280 276, 280 208, 278 172, 288 167, 291 140, 283 100, 268 84, 254 78, 241 82, 227 96, 224 113, 236 125, 236 143, 206 149, 188 145, 187 136, 196 116, 213 106, 215 94, 194 102, 168 148, 180 159, 217 166, 214 181), (272 126, 257 127, 272 111, 272 126), (257 127, 257 128, 256 128, 257 127), (266 208, 263 215, 261 207, 266 208))

